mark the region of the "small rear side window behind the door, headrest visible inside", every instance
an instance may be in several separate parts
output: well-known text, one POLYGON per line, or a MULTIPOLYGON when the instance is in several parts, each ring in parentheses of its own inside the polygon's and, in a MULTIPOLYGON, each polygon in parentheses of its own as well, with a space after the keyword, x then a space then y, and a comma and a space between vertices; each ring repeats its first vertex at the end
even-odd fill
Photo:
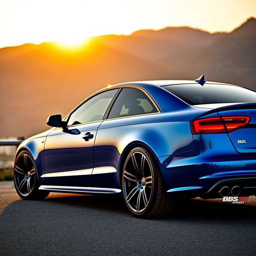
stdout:
POLYGON ((144 92, 135 88, 123 88, 112 106, 108 119, 157 112, 144 92))

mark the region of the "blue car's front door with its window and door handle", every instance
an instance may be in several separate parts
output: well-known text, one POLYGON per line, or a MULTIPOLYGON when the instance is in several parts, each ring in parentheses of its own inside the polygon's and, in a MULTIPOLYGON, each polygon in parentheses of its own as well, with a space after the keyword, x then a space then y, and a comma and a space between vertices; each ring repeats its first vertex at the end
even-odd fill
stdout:
POLYGON ((90 186, 97 129, 117 91, 107 90, 92 96, 71 112, 65 128, 56 128, 47 136, 45 184, 90 186))

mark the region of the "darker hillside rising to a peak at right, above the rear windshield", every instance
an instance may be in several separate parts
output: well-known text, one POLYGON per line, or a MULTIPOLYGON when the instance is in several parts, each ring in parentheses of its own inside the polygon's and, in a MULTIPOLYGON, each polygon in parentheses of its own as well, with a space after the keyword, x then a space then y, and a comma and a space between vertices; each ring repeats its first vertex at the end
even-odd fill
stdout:
POLYGON ((175 78, 193 79, 206 74, 212 81, 228 82, 256 89, 256 19, 251 18, 211 46, 180 50, 158 64, 172 70, 175 78))

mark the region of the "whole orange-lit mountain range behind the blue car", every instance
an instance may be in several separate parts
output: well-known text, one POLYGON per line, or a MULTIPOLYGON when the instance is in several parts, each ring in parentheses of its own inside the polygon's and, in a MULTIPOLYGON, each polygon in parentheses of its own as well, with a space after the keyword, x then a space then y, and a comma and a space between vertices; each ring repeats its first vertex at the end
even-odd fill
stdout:
POLYGON ((256 89, 256 20, 232 33, 192 28, 99 36, 77 51, 53 43, 0 49, 0 138, 46 130, 95 90, 118 82, 192 79, 256 89))

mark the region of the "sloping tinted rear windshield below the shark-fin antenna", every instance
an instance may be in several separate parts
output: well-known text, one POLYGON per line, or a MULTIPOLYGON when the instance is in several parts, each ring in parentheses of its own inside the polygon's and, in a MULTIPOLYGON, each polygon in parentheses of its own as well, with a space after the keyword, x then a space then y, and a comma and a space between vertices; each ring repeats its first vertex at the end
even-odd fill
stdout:
POLYGON ((256 102, 256 92, 226 84, 175 84, 162 86, 190 105, 256 102))

